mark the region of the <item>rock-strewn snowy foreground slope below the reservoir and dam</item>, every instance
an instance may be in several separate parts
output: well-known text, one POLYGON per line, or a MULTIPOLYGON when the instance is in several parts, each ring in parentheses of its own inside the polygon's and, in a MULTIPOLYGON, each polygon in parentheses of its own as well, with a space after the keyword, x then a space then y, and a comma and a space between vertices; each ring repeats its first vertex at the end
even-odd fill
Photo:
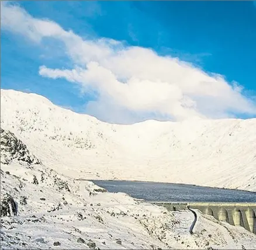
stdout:
POLYGON ((1 131, 1 249, 255 249, 256 235, 198 212, 171 213, 44 165, 1 131), (7 215, 7 216, 6 216, 7 215))

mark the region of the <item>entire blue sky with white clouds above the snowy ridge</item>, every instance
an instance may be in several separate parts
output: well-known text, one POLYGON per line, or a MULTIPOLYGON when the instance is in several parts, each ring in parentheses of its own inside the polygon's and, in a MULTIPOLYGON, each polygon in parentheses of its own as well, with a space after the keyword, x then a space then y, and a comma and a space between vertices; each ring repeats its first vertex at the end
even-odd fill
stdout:
POLYGON ((1 2, 1 88, 110 123, 256 117, 255 3, 1 2))

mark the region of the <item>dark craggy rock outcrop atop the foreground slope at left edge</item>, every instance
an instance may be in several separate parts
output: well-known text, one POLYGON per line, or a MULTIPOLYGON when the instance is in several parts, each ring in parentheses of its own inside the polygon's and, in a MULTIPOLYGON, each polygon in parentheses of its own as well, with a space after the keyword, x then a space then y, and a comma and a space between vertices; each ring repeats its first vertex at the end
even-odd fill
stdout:
POLYGON ((14 159, 28 164, 40 164, 39 159, 30 154, 22 141, 10 131, 1 128, 1 164, 9 164, 14 159))

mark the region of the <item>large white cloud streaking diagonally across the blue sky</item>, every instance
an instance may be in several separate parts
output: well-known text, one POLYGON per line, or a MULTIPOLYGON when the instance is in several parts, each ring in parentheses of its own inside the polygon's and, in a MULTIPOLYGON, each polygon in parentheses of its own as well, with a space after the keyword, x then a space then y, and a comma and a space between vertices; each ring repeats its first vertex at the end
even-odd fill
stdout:
POLYGON ((82 93, 98 92, 98 99, 88 103, 86 111, 99 119, 122 123, 152 114, 155 119, 172 120, 256 114, 255 103, 243 96, 240 86, 228 84, 221 75, 206 74, 148 48, 125 46, 112 39, 83 40, 57 23, 33 18, 18 6, 1 2, 1 7, 4 29, 41 43, 44 37, 63 42, 75 67, 42 66, 39 74, 65 78, 78 84, 82 93))

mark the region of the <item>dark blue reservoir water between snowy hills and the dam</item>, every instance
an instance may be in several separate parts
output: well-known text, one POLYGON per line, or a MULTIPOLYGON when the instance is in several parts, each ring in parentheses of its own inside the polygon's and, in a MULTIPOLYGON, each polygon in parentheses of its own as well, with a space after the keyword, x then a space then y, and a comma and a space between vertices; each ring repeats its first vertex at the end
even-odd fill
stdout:
POLYGON ((256 202, 255 192, 234 189, 126 180, 92 180, 92 182, 109 192, 127 193, 148 202, 256 202))

